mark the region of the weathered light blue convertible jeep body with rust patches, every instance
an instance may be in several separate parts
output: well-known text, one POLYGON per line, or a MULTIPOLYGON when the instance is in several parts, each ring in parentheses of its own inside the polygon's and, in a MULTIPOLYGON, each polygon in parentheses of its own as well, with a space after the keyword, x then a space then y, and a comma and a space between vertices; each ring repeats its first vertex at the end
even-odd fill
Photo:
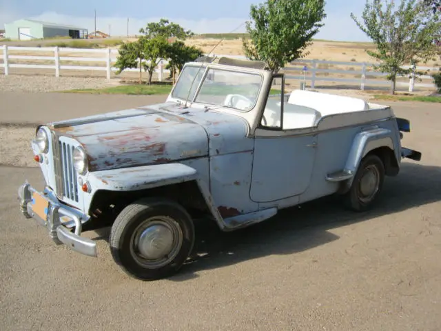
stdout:
POLYGON ((389 175, 398 174, 402 157, 418 158, 418 152, 402 148, 400 130, 406 131, 408 122, 396 119, 390 107, 309 91, 268 98, 271 72, 240 61, 205 66, 263 77, 254 106, 238 111, 183 102, 172 91, 165 103, 41 126, 50 137, 48 151, 41 153, 35 142, 32 148, 40 156, 43 193, 52 209, 39 219, 32 211, 36 191, 25 183, 19 189, 23 214, 39 219, 55 241, 96 256, 95 243, 81 237, 81 228, 112 199, 151 192, 188 195, 192 208, 229 231, 283 208, 347 192, 369 152, 382 157, 389 175), (301 116, 311 124, 262 126, 263 112, 270 121, 270 108, 282 109, 282 102, 287 123, 296 126, 301 116), (86 174, 76 173, 70 162, 77 146, 88 156, 86 174))

